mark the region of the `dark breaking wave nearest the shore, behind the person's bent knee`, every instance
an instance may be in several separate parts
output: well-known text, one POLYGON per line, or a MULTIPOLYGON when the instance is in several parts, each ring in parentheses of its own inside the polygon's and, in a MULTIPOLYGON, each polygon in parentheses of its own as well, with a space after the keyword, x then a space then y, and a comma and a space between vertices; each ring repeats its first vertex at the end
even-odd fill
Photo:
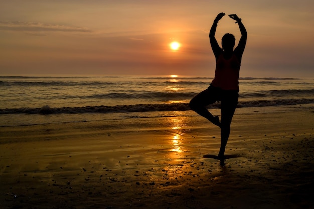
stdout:
MULTIPOLYGON (((267 107, 279 105, 311 104, 314 99, 277 99, 259 101, 240 101, 238 108, 267 107)), ((220 103, 209 105, 208 108, 220 108, 220 103)), ((116 106, 86 106, 51 108, 6 108, 0 109, 0 114, 78 114, 78 113, 122 113, 122 112, 154 112, 154 111, 187 111, 191 110, 188 103, 171 104, 136 104, 116 106)))

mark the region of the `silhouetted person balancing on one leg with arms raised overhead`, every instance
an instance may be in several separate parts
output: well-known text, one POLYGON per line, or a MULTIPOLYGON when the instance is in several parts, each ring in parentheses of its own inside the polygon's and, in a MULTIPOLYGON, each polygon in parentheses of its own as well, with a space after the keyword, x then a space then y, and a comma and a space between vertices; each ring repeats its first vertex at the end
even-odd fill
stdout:
POLYGON ((190 102, 192 110, 221 128, 221 146, 218 158, 222 164, 224 164, 224 153, 230 134, 231 120, 238 104, 239 71, 247 39, 247 32, 241 19, 237 15, 229 15, 238 23, 241 38, 238 46, 233 50, 235 38, 232 34, 225 34, 221 41, 222 48, 220 48, 215 33, 218 21, 223 16, 225 16, 224 13, 217 15, 209 33, 209 40, 216 58, 215 78, 208 89, 196 95, 190 102), (218 101, 221 102, 221 121, 219 121, 218 116, 213 116, 206 108, 207 105, 218 101))

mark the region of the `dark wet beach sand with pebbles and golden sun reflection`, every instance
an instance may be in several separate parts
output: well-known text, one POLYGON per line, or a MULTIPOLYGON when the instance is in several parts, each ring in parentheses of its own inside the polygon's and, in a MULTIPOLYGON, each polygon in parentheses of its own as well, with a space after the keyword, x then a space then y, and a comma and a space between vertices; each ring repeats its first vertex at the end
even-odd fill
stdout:
POLYGON ((1 127, 0 208, 313 208, 313 124, 236 114, 225 166, 199 116, 1 127))

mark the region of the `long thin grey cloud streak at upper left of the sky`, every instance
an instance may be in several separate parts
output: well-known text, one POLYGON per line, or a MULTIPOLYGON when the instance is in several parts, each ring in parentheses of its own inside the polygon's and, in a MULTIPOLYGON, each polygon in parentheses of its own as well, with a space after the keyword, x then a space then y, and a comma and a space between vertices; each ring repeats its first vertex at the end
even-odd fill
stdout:
POLYGON ((78 32, 92 33, 92 31, 73 26, 52 25, 36 22, 3 22, 0 21, 0 31, 20 31, 20 32, 78 32))

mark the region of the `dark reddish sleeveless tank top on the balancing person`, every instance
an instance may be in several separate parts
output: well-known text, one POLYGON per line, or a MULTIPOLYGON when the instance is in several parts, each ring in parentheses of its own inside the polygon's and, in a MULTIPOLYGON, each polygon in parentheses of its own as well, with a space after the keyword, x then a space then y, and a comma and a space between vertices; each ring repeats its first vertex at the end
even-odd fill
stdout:
POLYGON ((234 54, 228 60, 221 54, 216 62, 215 78, 211 85, 223 90, 239 90, 240 66, 234 54))

